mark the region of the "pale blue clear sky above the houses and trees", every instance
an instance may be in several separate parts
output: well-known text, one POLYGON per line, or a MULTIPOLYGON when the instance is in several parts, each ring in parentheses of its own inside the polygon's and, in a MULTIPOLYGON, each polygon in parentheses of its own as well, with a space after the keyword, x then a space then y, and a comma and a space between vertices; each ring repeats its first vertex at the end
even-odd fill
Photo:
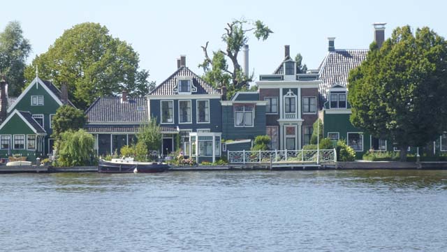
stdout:
MULTIPOLYGON (((177 70, 177 58, 186 55, 186 66, 203 71, 200 47, 224 49, 221 41, 227 22, 244 18, 261 20, 272 31, 268 40, 249 36, 249 68, 255 77, 270 74, 284 59, 284 45, 291 55, 302 54, 309 69, 316 69, 328 51, 328 37, 337 49, 367 49, 373 40, 374 22, 386 22, 388 38, 396 27, 409 24, 430 27, 447 36, 445 1, 2 1, 0 30, 20 22, 32 45, 27 59, 59 38, 64 30, 82 22, 98 22, 110 34, 131 44, 140 54, 140 68, 149 70, 157 84, 177 70)), ((242 56, 240 56, 242 64, 242 56)))

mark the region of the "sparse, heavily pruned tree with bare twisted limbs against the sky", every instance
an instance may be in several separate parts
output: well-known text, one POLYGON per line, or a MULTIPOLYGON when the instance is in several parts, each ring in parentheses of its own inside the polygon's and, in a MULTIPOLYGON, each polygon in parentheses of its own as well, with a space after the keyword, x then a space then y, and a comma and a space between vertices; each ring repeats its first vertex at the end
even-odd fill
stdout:
POLYGON ((235 91, 249 89, 249 82, 253 77, 252 75, 249 77, 244 75, 237 60, 240 50, 249 40, 248 33, 252 31, 258 40, 266 40, 273 31, 260 20, 251 22, 244 19, 233 20, 233 22, 227 23, 224 30, 222 41, 226 44, 226 49, 213 52, 211 58, 207 49, 208 42, 205 43, 205 46, 202 46, 205 59, 202 64, 199 64, 199 67, 203 68, 205 72, 204 78, 207 82, 216 88, 225 85, 228 90, 228 96, 231 96, 235 91), (228 68, 227 58, 233 65, 233 69, 228 68))

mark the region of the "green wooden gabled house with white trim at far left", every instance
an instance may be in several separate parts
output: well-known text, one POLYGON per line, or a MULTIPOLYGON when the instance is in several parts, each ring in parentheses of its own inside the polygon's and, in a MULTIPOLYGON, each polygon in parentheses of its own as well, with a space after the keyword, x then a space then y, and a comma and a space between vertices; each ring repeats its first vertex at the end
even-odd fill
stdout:
POLYGON ((61 89, 36 77, 9 106, 0 125, 0 157, 3 161, 17 155, 35 161, 37 157, 52 154, 52 117, 61 105, 73 106, 68 101, 66 87, 61 89))

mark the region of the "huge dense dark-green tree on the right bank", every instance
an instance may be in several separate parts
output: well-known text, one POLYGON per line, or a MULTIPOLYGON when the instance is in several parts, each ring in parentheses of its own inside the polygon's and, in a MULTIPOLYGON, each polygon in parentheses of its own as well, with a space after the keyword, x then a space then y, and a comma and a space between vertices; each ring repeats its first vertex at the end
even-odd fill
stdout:
POLYGON ((447 43, 428 27, 399 27, 349 75, 351 122, 376 138, 424 146, 446 130, 447 43))

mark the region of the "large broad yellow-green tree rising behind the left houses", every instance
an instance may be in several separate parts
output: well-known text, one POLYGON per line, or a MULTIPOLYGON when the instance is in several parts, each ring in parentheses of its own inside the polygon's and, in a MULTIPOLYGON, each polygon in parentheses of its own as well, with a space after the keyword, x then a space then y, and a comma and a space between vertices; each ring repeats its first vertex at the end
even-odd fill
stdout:
POLYGON ((96 23, 77 24, 64 31, 47 52, 37 56, 25 70, 32 80, 38 66, 42 79, 60 86, 65 82, 68 95, 77 108, 85 110, 98 96, 143 96, 154 86, 149 72, 139 71, 139 55, 131 45, 113 38, 109 30, 96 23))

